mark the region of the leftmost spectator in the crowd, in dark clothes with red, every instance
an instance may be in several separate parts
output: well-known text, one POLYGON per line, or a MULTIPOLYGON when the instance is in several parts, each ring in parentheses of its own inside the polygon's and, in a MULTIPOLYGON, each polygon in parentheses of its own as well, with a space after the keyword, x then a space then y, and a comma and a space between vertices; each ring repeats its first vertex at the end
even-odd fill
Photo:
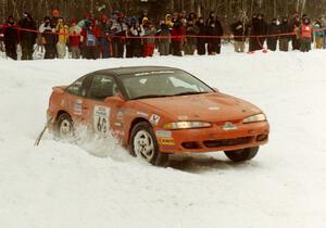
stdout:
POLYGON ((18 26, 13 16, 9 16, 3 25, 3 36, 7 56, 17 60, 18 26))

